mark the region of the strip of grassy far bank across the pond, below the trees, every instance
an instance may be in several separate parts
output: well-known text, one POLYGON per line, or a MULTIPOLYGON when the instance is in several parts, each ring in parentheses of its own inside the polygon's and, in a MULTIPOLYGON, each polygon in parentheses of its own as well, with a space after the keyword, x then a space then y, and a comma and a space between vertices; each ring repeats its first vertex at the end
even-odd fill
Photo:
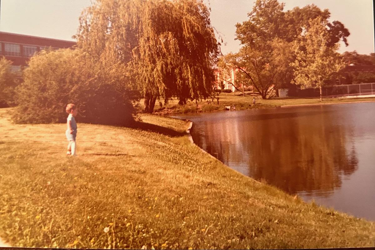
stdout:
MULTIPOLYGON (((162 108, 159 106, 159 101, 156 100, 155 113, 158 115, 166 115, 171 113, 195 113, 195 112, 211 112, 224 110, 224 106, 236 106, 236 110, 242 109, 262 109, 281 107, 286 105, 300 105, 300 104, 331 104, 331 103, 345 103, 358 101, 375 101, 375 97, 369 98, 323 98, 323 102, 319 98, 272 98, 270 100, 263 100, 256 97, 256 104, 252 105, 253 97, 246 94, 245 97, 240 93, 220 93, 219 104, 217 100, 207 103, 206 101, 199 101, 198 107, 195 102, 189 102, 185 106, 178 105, 178 100, 173 99, 162 108)), ((164 103, 163 100, 161 100, 164 103)), ((143 100, 140 102, 140 108, 143 108, 143 100)))

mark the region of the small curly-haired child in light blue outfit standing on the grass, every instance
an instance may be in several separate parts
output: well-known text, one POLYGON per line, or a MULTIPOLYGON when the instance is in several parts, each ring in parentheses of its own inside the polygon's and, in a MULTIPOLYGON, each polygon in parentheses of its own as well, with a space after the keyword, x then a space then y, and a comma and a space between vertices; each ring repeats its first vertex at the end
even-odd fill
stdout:
POLYGON ((75 156, 76 143, 75 137, 77 136, 77 123, 75 122, 74 117, 77 115, 77 107, 73 103, 69 103, 66 106, 66 113, 69 114, 66 119, 66 124, 68 128, 66 129, 65 135, 69 141, 67 155, 75 156))

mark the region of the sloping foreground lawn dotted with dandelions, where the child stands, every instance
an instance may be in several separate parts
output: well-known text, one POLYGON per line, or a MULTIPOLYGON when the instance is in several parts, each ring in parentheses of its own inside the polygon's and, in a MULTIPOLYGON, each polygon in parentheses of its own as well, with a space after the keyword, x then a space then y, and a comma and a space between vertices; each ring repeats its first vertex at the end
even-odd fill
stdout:
POLYGON ((65 124, 14 125, 6 110, 0 237, 12 246, 374 246, 374 222, 231 170, 189 142, 183 121, 144 115, 140 128, 78 124, 79 156, 69 158, 65 124))

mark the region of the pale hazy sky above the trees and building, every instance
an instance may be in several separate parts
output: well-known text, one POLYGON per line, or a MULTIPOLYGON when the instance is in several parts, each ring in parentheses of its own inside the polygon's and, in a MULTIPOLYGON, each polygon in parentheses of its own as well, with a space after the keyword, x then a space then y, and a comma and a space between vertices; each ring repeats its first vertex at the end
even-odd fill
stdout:
MULTIPOLYGON (((209 0, 211 24, 226 43, 223 54, 237 52, 240 43, 234 40, 237 22, 248 19, 255 0, 209 0)), ((360 54, 374 52, 374 14, 372 0, 279 0, 285 10, 315 4, 331 12, 330 21, 342 22, 350 31, 349 46, 340 52, 356 50, 360 54)), ((73 40, 78 17, 91 0, 1 0, 0 31, 73 40)))

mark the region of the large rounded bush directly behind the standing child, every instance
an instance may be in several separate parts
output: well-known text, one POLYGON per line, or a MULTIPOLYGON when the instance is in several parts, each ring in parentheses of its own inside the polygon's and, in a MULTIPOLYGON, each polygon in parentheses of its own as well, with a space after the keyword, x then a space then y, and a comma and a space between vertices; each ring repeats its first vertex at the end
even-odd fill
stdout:
POLYGON ((65 122, 68 103, 77 105, 78 122, 126 125, 133 120, 120 80, 79 49, 42 51, 32 57, 16 91, 16 123, 65 122))

